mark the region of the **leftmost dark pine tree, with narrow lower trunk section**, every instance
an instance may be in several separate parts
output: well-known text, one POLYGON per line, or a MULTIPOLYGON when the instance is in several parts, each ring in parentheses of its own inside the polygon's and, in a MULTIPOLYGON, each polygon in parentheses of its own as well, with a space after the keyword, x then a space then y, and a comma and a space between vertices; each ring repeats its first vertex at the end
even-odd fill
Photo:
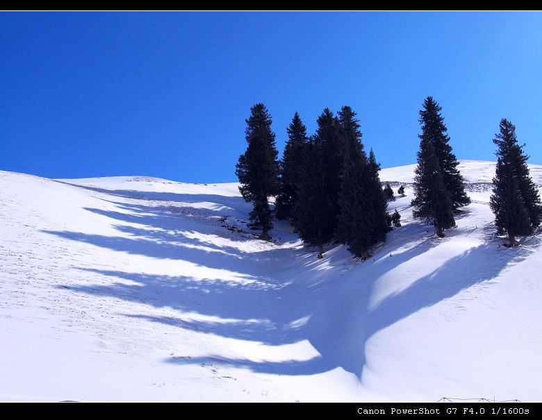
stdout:
POLYGON ((268 231, 273 227, 268 198, 277 194, 279 187, 278 152, 267 108, 263 103, 256 103, 250 112, 245 130, 248 146, 239 157, 236 175, 243 199, 254 204, 249 214, 249 228, 261 228, 261 238, 268 240, 268 231))

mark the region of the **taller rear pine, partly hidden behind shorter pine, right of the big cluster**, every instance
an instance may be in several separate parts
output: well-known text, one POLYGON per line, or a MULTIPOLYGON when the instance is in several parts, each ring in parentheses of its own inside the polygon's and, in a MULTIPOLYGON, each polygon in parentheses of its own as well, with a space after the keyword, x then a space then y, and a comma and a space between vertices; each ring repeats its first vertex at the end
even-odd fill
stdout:
POLYGON ((459 162, 452 153, 450 136, 446 134, 448 129, 444 125, 444 118, 441 115, 441 106, 434 101, 432 96, 427 96, 420 110, 420 124, 422 134, 420 140, 431 142, 438 159, 445 189, 450 193, 450 199, 454 210, 470 203, 465 192, 465 180, 459 173, 457 166, 459 162))

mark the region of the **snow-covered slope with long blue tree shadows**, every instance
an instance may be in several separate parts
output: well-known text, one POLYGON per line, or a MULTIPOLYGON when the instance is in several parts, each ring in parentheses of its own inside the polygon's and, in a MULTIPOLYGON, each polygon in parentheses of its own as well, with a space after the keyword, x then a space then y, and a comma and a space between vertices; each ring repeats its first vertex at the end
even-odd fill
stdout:
POLYGON ((494 163, 460 169, 457 229, 413 221, 407 185, 366 262, 258 240, 233 183, 0 171, 0 400, 541 401, 540 237, 500 246, 494 163))

